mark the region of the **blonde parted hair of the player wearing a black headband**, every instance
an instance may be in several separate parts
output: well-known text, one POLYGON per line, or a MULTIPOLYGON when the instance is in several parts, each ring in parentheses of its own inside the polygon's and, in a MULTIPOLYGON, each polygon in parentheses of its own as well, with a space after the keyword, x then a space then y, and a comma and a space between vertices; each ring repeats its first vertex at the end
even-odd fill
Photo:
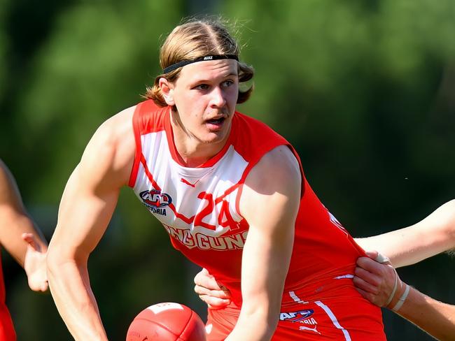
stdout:
MULTIPOLYGON (((164 70, 167 66, 179 61, 192 60, 207 55, 235 55, 239 56, 239 45, 230 36, 221 20, 189 20, 177 26, 167 36, 160 49, 160 66, 164 70)), ((237 63, 239 82, 247 82, 254 75, 254 69, 247 64, 237 63)), ((173 71, 158 75, 153 87, 147 87, 144 97, 153 99, 158 106, 167 106, 162 96, 159 81, 166 78, 175 82, 179 78, 181 67, 173 71)), ((239 89, 237 103, 244 103, 253 92, 253 86, 246 90, 239 89)))

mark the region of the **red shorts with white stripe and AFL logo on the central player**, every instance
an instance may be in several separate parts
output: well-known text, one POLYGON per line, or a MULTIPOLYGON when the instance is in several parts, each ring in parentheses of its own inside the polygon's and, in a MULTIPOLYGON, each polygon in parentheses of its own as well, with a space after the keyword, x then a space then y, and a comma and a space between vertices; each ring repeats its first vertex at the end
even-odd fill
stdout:
MULTIPOLYGON (((209 310, 207 341, 225 340, 239 312, 232 306, 209 310)), ((272 340, 385 341, 386 335, 380 308, 353 296, 284 305, 272 340)))

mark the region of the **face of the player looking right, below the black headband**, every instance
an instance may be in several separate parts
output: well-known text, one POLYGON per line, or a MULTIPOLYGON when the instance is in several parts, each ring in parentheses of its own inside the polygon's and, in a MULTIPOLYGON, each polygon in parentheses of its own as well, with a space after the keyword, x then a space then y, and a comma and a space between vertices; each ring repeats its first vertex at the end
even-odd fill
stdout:
POLYGON ((239 94, 237 61, 221 59, 184 66, 170 85, 178 124, 198 143, 223 143, 239 94))

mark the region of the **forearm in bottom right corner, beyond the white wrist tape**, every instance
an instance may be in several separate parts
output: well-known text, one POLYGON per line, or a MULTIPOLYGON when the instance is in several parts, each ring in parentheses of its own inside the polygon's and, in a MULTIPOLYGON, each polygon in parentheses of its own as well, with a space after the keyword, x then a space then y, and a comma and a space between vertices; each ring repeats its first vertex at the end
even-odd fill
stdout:
POLYGON ((455 340, 455 306, 434 300, 411 288, 400 314, 438 340, 455 340))

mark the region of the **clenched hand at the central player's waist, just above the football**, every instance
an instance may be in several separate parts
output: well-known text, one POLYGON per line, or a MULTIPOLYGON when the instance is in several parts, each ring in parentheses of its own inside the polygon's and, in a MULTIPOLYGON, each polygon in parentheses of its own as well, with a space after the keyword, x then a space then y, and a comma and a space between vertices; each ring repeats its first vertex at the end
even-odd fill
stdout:
POLYGON ((231 303, 231 293, 223 285, 216 282, 215 277, 203 268, 195 276, 195 292, 199 295, 210 309, 223 309, 231 303))

